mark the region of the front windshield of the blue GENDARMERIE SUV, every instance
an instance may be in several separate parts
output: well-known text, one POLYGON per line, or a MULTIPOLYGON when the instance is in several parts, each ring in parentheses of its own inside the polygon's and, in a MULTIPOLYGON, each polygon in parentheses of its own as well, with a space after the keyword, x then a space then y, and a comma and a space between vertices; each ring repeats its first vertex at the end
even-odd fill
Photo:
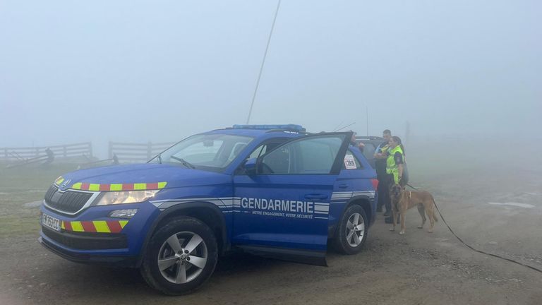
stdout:
POLYGON ((224 169, 251 140, 253 138, 248 136, 199 134, 181 140, 149 162, 204 170, 224 169))

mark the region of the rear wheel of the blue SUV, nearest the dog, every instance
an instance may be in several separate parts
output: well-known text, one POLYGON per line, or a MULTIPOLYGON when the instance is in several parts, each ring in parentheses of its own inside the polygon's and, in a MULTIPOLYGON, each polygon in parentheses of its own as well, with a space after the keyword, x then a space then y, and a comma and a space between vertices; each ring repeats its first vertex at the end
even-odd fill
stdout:
POLYGON ((367 239, 368 223, 365 210, 359 205, 350 205, 335 232, 337 251, 343 254, 359 253, 367 239))

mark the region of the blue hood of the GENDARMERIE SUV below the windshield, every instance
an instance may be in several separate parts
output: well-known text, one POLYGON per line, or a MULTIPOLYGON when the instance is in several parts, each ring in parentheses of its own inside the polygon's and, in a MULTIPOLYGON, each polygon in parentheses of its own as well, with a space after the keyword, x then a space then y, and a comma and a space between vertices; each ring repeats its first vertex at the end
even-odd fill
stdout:
POLYGON ((165 188, 221 184, 229 176, 199 169, 187 169, 181 165, 145 163, 138 165, 116 165, 81 169, 63 174, 60 189, 71 189, 73 184, 155 184, 167 182, 165 188))

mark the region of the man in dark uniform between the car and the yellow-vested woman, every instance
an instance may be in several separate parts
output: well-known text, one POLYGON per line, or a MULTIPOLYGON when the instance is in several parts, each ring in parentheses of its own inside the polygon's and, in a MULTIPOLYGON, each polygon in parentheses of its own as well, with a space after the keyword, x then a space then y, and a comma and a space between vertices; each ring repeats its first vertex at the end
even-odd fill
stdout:
POLYGON ((390 129, 386 129, 382 133, 384 142, 378 145, 378 148, 375 150, 375 169, 376 169, 376 178, 378 179, 378 203, 377 211, 382 212, 383 205, 386 207, 386 212, 384 213, 385 217, 388 217, 392 213, 390 194, 388 192, 388 185, 390 181, 387 181, 386 175, 386 158, 387 158, 387 148, 392 137, 392 132, 390 129))

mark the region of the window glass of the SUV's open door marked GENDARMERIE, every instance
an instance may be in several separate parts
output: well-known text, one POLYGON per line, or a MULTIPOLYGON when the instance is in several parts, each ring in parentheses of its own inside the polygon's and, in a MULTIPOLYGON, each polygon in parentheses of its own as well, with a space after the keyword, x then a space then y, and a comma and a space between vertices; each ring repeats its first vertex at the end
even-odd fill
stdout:
POLYGON ((263 157, 262 174, 329 174, 344 135, 294 140, 263 157))

